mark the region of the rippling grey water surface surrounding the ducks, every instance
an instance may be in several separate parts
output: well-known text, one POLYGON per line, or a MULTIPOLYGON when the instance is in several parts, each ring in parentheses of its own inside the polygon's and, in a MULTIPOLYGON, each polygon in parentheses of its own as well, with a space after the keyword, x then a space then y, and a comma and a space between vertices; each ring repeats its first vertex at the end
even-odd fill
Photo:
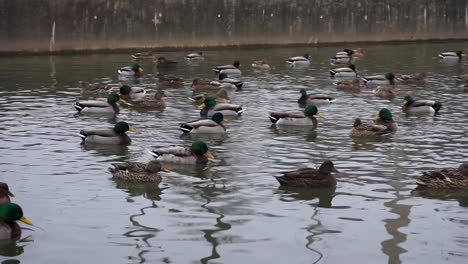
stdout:
MULTIPOLYGON (((468 160, 468 93, 454 77, 468 66, 440 63, 439 52, 468 43, 362 47, 360 74, 428 72, 425 87, 399 85, 393 100, 371 90, 337 90, 328 59, 339 49, 272 48, 206 52, 189 65, 184 52, 169 72, 186 86, 167 89, 165 111, 122 109, 112 116, 74 116, 78 81, 119 84, 125 55, 0 59, 0 180, 10 185, 38 228, 23 240, 0 244, 0 260, 21 263, 467 263, 468 193, 414 193, 414 177, 468 160), (309 52, 306 70, 285 59, 309 52), (267 59, 272 70, 250 63, 267 59), (111 162, 150 160, 156 146, 189 145, 178 124, 193 120, 191 80, 215 78, 213 66, 239 59, 244 89, 231 94, 248 110, 229 120, 224 137, 201 137, 216 160, 205 169, 170 165, 159 187, 111 180, 111 162), (300 88, 333 95, 319 107, 315 131, 271 128, 267 113, 297 110, 300 88), (401 113, 402 98, 438 99, 437 116, 401 113), (353 119, 370 119, 382 107, 394 112, 399 131, 381 140, 353 140, 353 119), (129 147, 81 146, 83 128, 128 121, 138 130, 129 147), (272 177, 325 159, 342 172, 336 190, 279 188, 272 177)), ((142 63, 140 84, 155 91, 157 69, 142 63)))

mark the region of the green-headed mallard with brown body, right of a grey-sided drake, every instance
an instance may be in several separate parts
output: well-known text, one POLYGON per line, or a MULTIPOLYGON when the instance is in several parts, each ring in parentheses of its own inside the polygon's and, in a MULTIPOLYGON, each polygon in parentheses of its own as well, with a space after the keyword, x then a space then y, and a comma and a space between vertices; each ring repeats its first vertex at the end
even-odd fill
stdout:
POLYGON ((362 123, 360 118, 354 120, 353 129, 351 130, 352 137, 372 137, 380 136, 395 132, 398 129, 395 121, 393 121, 392 112, 383 108, 379 114, 374 117, 375 124, 362 123))

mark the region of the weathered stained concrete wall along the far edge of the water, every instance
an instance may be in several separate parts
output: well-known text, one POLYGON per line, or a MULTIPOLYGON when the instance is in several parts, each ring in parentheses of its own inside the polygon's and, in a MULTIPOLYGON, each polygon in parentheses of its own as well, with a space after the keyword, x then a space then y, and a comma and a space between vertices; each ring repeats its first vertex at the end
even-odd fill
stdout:
POLYGON ((468 39, 468 0, 0 0, 0 53, 468 39))

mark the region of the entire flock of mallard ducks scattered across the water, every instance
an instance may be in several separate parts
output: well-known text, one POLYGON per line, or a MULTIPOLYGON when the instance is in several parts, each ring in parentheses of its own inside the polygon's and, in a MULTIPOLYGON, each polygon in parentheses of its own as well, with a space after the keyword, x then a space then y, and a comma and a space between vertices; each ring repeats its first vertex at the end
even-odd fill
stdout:
MULTIPOLYGON (((444 61, 461 63, 461 51, 443 52, 439 58, 444 61)), ((396 77, 389 72, 382 75, 370 75, 359 78, 356 72, 355 62, 364 57, 362 49, 345 49, 337 52, 331 58, 331 64, 335 66, 330 70, 330 75, 336 79, 335 85, 338 89, 360 90, 365 87, 374 88, 376 96, 392 98, 395 96, 395 84, 401 83, 423 83, 426 79, 425 73, 401 75, 396 77)), ((139 78, 143 74, 142 67, 138 61, 155 61, 158 69, 170 69, 177 67, 177 62, 165 57, 156 56, 152 53, 136 53, 132 55, 135 63, 117 70, 120 77, 139 78)), ((205 60, 202 52, 187 54, 184 58, 190 62, 201 62, 205 60)), ((296 56, 286 60, 290 67, 308 67, 311 63, 310 56, 296 56)), ((265 60, 252 63, 252 67, 258 70, 268 71, 270 66, 265 60)), ((182 133, 196 134, 224 134, 226 126, 225 118, 242 115, 246 110, 241 105, 230 102, 227 90, 241 89, 243 81, 240 62, 234 61, 231 65, 222 65, 213 68, 217 74, 217 80, 194 79, 191 84, 195 95, 190 100, 198 105, 200 119, 186 122, 180 125, 182 133)), ((460 76, 459 81, 468 87, 468 74, 460 76)), ((80 93, 83 96, 98 97, 95 100, 83 100, 74 104, 79 115, 83 114, 118 114, 120 105, 141 110, 162 110, 166 107, 163 88, 184 87, 184 80, 170 75, 158 74, 156 84, 158 89, 154 96, 150 97, 147 91, 139 87, 122 85, 118 89, 106 85, 89 84, 80 82, 80 93), (99 98, 106 96, 106 98, 99 98)), ((310 94, 305 89, 299 91, 297 103, 303 108, 302 111, 271 112, 268 114, 270 121, 276 126, 303 126, 317 128, 318 119, 322 117, 318 107, 331 104, 335 98, 310 94)), ((415 99, 411 95, 404 97, 402 111, 405 113, 435 114, 440 111, 442 104, 435 100, 415 99)), ((351 129, 351 137, 381 137, 397 131, 398 126, 393 120, 392 112, 383 108, 375 115, 373 122, 363 122, 357 118, 351 129)), ((127 122, 117 122, 113 128, 84 129, 79 136, 82 144, 108 144, 129 145, 131 138, 127 132, 134 132, 127 122)), ((112 164, 109 171, 116 181, 125 182, 161 182, 160 172, 170 172, 163 167, 161 162, 204 165, 210 159, 214 159, 209 147, 203 141, 195 141, 190 146, 172 146, 157 148, 149 151, 155 158, 147 163, 127 161, 112 164)), ((276 179, 282 186, 300 188, 329 188, 336 186, 334 173, 337 170, 330 160, 324 161, 318 169, 304 168, 282 173, 276 179)), ((418 188, 430 189, 461 189, 468 188, 468 162, 462 163, 458 168, 446 168, 424 172, 416 179, 418 188)), ((16 221, 23 221, 32 225, 31 221, 23 216, 21 207, 11 203, 13 194, 8 185, 0 183, 0 239, 15 238, 20 234, 16 221)))

